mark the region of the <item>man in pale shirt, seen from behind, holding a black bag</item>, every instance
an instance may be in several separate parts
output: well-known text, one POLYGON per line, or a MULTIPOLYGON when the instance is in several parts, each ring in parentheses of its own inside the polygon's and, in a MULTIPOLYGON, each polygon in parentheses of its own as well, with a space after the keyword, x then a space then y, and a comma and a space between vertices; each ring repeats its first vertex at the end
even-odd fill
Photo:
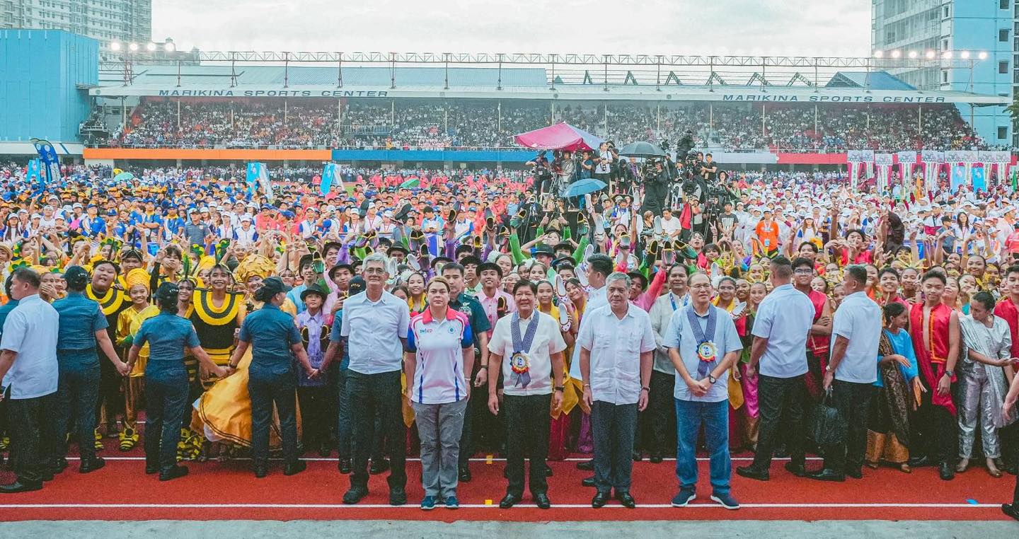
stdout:
POLYGON ((846 476, 863 477, 867 449, 867 414, 877 380, 874 367, 881 336, 881 308, 863 291, 867 270, 849 266, 842 285, 846 298, 835 312, 832 360, 824 369, 824 389, 832 389, 832 401, 846 423, 842 443, 822 447, 824 467, 807 476, 821 481, 845 481, 846 476))

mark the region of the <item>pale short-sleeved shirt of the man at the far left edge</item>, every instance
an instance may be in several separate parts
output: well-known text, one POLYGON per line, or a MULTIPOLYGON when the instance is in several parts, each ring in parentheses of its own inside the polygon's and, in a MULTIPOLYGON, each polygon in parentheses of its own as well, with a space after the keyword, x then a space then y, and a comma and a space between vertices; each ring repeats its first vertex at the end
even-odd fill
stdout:
POLYGON ((36 398, 57 390, 60 315, 39 294, 22 298, 3 324, 0 349, 16 353, 4 377, 11 398, 36 398))

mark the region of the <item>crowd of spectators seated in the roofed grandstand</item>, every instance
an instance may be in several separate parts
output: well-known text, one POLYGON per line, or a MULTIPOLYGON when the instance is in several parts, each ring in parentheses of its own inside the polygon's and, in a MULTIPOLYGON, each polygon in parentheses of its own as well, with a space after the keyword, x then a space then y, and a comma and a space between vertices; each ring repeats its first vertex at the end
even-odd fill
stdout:
POLYGON ((567 121, 606 140, 679 141, 720 150, 985 150, 954 106, 693 103, 585 105, 282 99, 145 100, 105 144, 182 148, 514 148, 514 134, 567 121))

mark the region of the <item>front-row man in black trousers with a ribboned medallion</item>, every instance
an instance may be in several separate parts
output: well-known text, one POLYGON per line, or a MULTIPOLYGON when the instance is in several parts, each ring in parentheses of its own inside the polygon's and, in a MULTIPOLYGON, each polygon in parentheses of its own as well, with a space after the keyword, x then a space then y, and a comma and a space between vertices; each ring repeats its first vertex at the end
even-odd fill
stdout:
POLYGON ((551 506, 545 456, 548 454, 549 410, 562 405, 562 351, 567 343, 554 318, 538 311, 538 286, 522 280, 514 285, 517 312, 495 322, 488 341, 488 409, 499 413, 497 394, 502 373, 502 410, 506 425, 506 495, 499 507, 516 505, 524 495, 524 455, 530 461, 528 482, 539 508, 551 506), (554 377, 554 386, 552 378, 554 377))

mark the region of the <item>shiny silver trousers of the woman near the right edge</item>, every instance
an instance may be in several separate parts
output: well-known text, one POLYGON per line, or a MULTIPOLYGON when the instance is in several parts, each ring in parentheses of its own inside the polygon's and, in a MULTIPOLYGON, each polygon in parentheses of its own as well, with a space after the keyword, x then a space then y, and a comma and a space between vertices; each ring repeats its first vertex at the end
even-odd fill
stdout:
POLYGON ((1002 403, 995 401, 991 380, 987 378, 985 368, 982 363, 969 363, 959 370, 960 459, 969 459, 973 453, 977 422, 980 423, 983 455, 987 459, 999 459, 1002 455, 998 428, 995 426, 995 414, 1002 413, 1002 403))

